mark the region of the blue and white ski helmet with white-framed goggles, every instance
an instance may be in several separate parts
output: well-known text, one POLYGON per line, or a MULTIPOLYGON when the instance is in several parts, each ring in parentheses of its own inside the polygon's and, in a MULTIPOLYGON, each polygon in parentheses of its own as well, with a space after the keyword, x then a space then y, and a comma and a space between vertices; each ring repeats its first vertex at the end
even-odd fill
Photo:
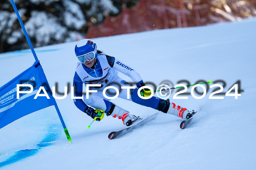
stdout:
POLYGON ((82 39, 75 46, 76 57, 81 63, 97 59, 97 46, 90 39, 82 39))

